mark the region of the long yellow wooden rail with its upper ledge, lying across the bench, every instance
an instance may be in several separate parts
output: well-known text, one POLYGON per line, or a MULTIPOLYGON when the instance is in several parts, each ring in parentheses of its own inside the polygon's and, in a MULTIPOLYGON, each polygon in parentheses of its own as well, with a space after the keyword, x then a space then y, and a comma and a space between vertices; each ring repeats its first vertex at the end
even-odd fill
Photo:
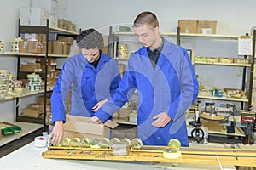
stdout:
POLYGON ((218 165, 216 156, 222 165, 255 167, 255 149, 226 148, 182 148, 182 156, 178 159, 163 157, 164 147, 145 147, 141 150, 130 150, 127 156, 113 156, 111 149, 93 148, 57 148, 49 147, 43 152, 44 158, 102 160, 102 161, 154 161, 218 165))

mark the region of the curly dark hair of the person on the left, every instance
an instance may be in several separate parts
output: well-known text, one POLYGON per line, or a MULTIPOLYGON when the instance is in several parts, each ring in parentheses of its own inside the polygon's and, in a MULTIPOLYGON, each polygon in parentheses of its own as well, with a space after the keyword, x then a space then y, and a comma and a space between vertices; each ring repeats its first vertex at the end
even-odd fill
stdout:
POLYGON ((101 50, 104 47, 102 34, 93 28, 82 31, 76 41, 80 49, 99 48, 101 50))

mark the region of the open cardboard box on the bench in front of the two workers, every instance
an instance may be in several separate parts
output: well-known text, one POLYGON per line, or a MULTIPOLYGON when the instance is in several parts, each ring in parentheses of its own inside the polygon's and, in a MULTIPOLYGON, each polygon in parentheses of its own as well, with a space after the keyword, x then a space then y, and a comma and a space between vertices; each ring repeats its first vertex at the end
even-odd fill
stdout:
POLYGON ((64 138, 109 138, 110 129, 118 126, 116 122, 107 121, 104 124, 89 123, 90 117, 66 116, 64 123, 64 138))

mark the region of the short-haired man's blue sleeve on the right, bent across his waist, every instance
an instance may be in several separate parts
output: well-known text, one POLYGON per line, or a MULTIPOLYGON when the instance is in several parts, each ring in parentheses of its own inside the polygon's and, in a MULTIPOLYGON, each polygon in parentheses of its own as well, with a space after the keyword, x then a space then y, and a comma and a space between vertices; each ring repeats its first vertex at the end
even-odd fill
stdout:
POLYGON ((181 60, 179 70, 180 95, 171 103, 170 109, 167 111, 168 115, 172 118, 172 122, 177 121, 185 114, 185 111, 197 99, 198 95, 198 81, 193 65, 191 64, 187 51, 183 48, 182 51, 184 57, 181 60))

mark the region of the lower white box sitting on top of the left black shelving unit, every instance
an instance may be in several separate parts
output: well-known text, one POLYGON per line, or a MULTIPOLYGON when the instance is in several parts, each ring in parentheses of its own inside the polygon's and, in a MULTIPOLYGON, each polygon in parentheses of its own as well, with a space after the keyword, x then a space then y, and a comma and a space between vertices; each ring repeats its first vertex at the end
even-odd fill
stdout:
POLYGON ((47 18, 43 8, 20 7, 20 25, 46 26, 47 18))

